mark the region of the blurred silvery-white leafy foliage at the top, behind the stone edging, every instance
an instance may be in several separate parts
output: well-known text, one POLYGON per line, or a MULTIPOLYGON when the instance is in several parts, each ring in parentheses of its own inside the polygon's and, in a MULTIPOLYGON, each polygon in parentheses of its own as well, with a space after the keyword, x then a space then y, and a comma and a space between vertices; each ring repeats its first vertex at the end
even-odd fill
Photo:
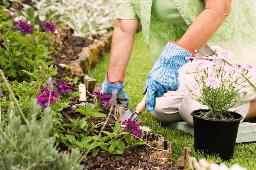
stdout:
POLYGON ((38 0, 40 20, 56 18, 68 24, 75 36, 92 36, 113 27, 117 0, 38 0))

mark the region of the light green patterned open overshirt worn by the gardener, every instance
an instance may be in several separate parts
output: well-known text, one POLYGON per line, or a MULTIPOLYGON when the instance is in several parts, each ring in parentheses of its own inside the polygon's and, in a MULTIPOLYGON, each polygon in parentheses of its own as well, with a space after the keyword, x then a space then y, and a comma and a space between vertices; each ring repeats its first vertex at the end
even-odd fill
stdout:
MULTIPOLYGON (((153 63, 166 42, 178 41, 184 31, 173 23, 163 22, 151 12, 153 0, 120 0, 118 19, 140 19, 146 46, 153 63)), ((190 26, 204 10, 203 0, 173 0, 182 18, 190 26)), ((256 1, 233 0, 231 13, 207 45, 231 50, 234 56, 227 62, 246 62, 256 66, 256 1)))

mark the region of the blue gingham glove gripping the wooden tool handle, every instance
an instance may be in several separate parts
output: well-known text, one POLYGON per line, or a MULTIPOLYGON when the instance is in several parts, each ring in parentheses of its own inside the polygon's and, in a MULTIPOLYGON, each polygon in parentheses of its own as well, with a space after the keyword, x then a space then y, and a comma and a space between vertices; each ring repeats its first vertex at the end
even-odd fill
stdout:
POLYGON ((175 91, 179 88, 178 69, 188 61, 186 57, 194 57, 195 53, 186 50, 173 41, 167 42, 159 59, 148 73, 146 88, 146 107, 148 112, 155 108, 155 98, 162 97, 169 90, 175 91))

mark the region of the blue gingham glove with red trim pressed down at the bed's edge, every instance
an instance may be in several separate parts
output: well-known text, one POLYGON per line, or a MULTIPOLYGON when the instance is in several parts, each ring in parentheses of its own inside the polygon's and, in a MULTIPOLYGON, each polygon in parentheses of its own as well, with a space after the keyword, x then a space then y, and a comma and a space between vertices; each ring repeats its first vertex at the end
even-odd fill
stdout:
POLYGON ((117 90, 117 102, 124 104, 128 107, 129 97, 124 91, 124 77, 120 81, 111 82, 108 80, 108 73, 106 74, 105 80, 102 84, 101 93, 106 93, 108 96, 112 95, 113 90, 117 90))

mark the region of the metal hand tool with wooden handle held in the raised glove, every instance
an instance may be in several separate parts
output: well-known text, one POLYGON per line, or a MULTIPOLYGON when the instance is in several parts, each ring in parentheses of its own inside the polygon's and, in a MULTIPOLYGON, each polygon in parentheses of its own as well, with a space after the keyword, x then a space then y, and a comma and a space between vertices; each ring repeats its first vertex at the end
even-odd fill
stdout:
POLYGON ((146 94, 144 95, 142 101, 137 105, 135 112, 131 112, 129 109, 124 113, 123 117, 120 121, 125 121, 127 119, 131 119, 132 121, 138 120, 138 116, 141 112, 143 112, 146 108, 146 94))

